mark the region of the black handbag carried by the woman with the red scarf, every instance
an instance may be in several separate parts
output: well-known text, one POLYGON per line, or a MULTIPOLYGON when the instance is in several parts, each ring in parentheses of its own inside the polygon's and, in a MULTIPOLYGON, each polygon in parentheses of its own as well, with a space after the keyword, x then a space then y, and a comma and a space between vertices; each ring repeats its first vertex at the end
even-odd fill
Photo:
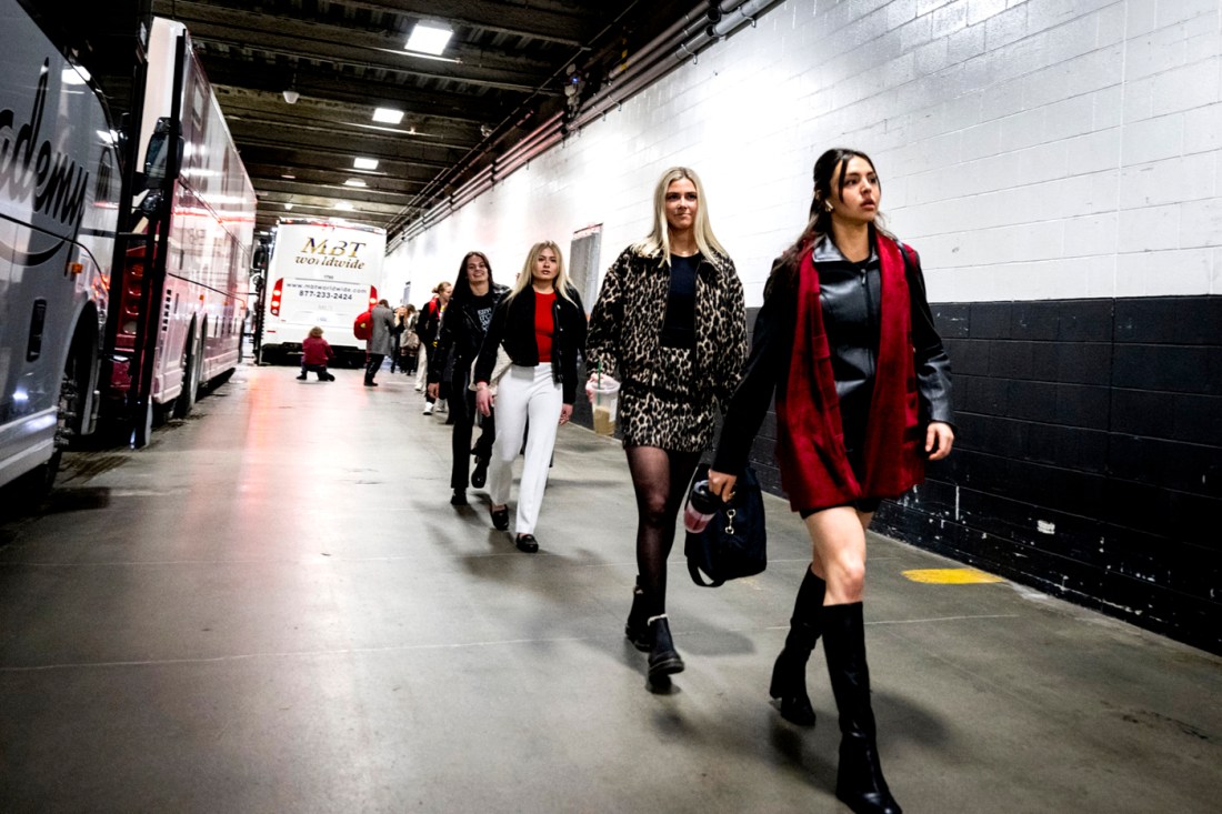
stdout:
MULTIPOLYGON (((709 464, 701 463, 693 483, 708 478, 709 464)), ((692 582, 701 588, 717 588, 727 579, 761 573, 767 567, 766 548, 764 494, 755 471, 747 467, 734 484, 733 499, 717 508, 703 532, 687 534, 683 552, 692 582)))

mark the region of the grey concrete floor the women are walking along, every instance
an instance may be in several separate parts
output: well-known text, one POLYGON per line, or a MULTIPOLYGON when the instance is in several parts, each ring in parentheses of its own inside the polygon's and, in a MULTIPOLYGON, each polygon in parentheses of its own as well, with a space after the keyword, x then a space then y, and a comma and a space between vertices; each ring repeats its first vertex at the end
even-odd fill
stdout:
MULTIPOLYGON (((448 502, 448 428, 403 376, 246 368, 139 452, 75 453, 0 519, 5 812, 843 812, 772 658, 809 543, 765 573, 672 560, 687 672, 646 689, 620 446, 568 427, 519 554, 448 502)), ((1222 659, 873 538, 884 766, 920 812, 1217 812, 1222 659)), ((678 545, 682 549, 682 544, 678 545)), ((821 649, 820 649, 821 654, 821 649)))

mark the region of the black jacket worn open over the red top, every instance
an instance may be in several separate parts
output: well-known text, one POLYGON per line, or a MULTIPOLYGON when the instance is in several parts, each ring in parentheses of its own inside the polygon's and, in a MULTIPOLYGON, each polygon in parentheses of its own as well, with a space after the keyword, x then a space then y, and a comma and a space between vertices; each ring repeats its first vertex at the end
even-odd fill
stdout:
MULTIPOLYGON (((512 299, 502 299, 492 312, 492 324, 488 326, 484 345, 475 362, 475 381, 488 381, 496 367, 496 347, 505 346, 505 352, 513 364, 534 367, 539 364, 539 346, 534 335, 534 288, 527 286, 512 299)), ((577 290, 568 287, 568 298, 556 297, 551 308, 552 378, 561 383, 565 403, 572 405, 577 398, 577 354, 585 347, 585 309, 577 290)))

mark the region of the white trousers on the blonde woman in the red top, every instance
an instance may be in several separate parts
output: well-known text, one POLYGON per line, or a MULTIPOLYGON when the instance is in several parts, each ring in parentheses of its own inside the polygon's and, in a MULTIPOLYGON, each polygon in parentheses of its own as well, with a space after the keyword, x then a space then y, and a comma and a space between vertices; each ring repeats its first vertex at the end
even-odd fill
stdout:
POLYGON ((565 394, 560 384, 552 381, 550 364, 536 364, 533 368, 514 364, 496 385, 496 441, 488 466, 488 495, 494 506, 503 506, 510 500, 513 460, 522 449, 527 418, 530 419, 527 461, 522 467, 522 484, 518 488, 514 526, 518 534, 534 534, 563 406, 565 394))

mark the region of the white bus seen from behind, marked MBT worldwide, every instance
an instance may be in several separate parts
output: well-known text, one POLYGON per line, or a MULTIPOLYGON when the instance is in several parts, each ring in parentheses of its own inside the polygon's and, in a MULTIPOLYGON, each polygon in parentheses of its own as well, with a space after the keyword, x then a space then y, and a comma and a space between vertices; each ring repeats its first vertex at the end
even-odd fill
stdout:
POLYGON ((281 219, 263 297, 262 362, 298 362, 318 325, 337 361, 359 367, 365 345, 353 320, 378 302, 386 230, 343 221, 281 219))

